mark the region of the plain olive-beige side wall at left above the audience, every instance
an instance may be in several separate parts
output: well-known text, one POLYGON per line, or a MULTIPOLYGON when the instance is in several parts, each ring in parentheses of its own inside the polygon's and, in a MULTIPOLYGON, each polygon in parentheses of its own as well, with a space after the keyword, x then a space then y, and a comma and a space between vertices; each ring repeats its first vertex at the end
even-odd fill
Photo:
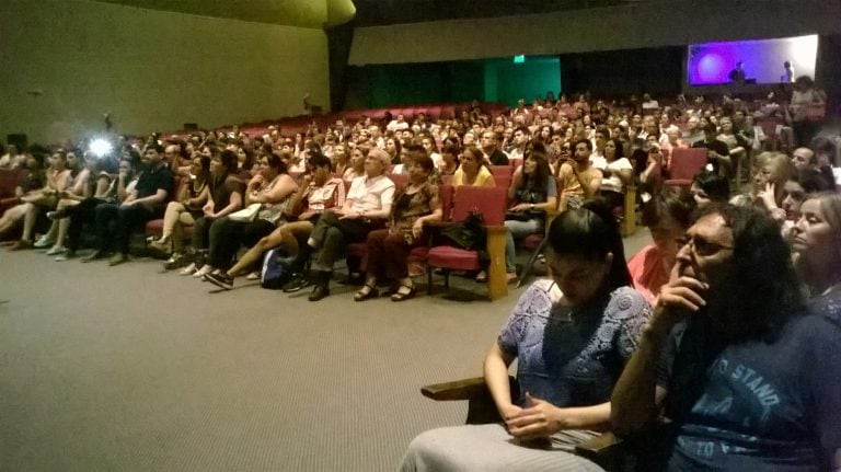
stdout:
POLYGON ((0 137, 58 142, 146 134, 330 105, 320 28, 251 23, 87 0, 0 2, 0 137))

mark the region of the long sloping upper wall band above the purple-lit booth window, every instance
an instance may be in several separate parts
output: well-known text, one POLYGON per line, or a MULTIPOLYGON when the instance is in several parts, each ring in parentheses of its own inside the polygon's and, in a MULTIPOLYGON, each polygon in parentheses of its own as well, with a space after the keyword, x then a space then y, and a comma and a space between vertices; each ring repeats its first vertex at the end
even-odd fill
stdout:
POLYGON ((673 0, 359 27, 349 62, 434 62, 841 32, 841 2, 673 0))

